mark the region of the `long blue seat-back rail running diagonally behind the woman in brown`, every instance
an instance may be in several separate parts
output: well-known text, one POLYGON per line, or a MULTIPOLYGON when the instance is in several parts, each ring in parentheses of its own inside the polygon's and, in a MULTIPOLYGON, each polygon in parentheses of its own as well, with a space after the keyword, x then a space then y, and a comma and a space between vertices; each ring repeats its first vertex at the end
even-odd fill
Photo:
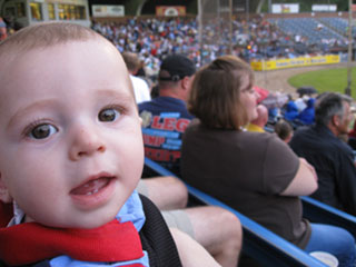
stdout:
MULTIPOLYGON (((145 158, 145 168, 149 169, 151 172, 156 172, 156 175, 175 176, 172 172, 148 158, 145 158)), ((253 258, 261 266, 326 266, 297 246, 277 236, 216 198, 210 197, 189 185, 187 185, 187 187, 189 195, 198 199, 201 204, 225 208, 239 218, 244 229, 243 255, 253 258)))

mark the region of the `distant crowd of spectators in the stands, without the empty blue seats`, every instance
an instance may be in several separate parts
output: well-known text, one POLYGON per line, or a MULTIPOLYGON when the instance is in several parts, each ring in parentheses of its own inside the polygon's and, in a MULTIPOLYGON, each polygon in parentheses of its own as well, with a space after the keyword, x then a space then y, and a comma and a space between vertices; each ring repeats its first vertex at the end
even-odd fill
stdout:
MULTIPOLYGON (((246 61, 267 58, 294 58, 308 53, 305 37, 286 34, 275 22, 263 17, 233 21, 233 47, 225 19, 204 20, 201 46, 196 18, 128 18, 115 22, 92 22, 92 29, 111 40, 122 51, 136 52, 148 76, 158 73, 161 59, 182 53, 197 66, 231 53, 246 61)), ((330 42, 330 40, 324 40, 330 42)), ((314 51, 315 52, 315 51, 314 51)), ((327 49, 318 52, 328 52, 327 49)))

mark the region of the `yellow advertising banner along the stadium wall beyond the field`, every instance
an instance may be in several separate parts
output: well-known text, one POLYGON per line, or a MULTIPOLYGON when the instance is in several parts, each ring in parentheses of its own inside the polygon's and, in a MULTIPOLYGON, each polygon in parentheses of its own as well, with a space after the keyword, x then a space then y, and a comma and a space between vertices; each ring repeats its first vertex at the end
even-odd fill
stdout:
POLYGON ((315 65, 330 65, 339 63, 340 57, 338 55, 316 56, 316 57, 298 57, 293 59, 276 59, 266 61, 250 62, 254 70, 277 70, 295 67, 306 67, 315 65))

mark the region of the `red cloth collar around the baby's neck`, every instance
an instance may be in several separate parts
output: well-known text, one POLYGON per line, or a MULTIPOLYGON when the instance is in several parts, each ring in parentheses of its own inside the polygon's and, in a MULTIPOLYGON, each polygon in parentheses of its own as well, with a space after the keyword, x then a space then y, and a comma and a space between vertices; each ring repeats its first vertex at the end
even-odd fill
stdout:
MULTIPOLYGON (((1 224, 9 212, 6 205, 0 205, 1 224)), ((60 255, 109 263, 137 259, 144 253, 134 224, 116 219, 95 229, 50 228, 37 222, 0 228, 0 259, 8 265, 32 264, 60 255)))

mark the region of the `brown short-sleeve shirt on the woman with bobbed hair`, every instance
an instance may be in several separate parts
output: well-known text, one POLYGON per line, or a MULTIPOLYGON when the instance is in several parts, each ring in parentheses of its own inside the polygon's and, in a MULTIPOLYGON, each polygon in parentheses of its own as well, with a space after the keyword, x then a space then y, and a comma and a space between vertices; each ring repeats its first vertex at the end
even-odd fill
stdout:
POLYGON ((304 248, 310 226, 298 197, 280 196, 299 168, 298 157, 275 135, 189 126, 182 178, 304 248))

